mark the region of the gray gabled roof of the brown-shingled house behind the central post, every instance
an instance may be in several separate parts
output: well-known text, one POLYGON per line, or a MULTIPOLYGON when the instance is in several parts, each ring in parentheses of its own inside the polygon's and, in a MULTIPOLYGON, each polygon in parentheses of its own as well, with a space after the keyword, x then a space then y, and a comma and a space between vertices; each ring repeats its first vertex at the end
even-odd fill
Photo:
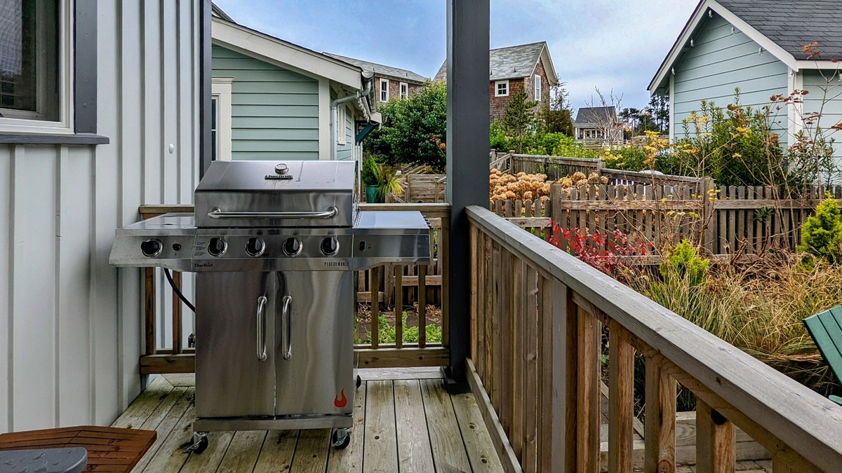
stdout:
MULTIPOLYGON (((520 79, 530 77, 538 65, 544 60, 546 79, 550 85, 558 84, 556 69, 552 66, 550 49, 546 41, 498 48, 488 51, 488 80, 501 81, 504 79, 520 79)), ((444 81, 447 75, 447 61, 443 62, 439 72, 435 74, 435 81, 444 81)))

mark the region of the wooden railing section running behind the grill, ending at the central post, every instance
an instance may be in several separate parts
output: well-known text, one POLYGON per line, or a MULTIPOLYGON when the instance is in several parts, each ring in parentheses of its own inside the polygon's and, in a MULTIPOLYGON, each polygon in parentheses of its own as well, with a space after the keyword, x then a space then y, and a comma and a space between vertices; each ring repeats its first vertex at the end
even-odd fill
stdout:
MULTIPOLYGON (((370 338, 355 345, 360 368, 386 368, 410 366, 441 366, 448 364, 450 351, 448 349, 448 312, 447 312, 447 246, 450 227, 450 205, 448 204, 362 204, 362 210, 418 210, 430 222, 431 249, 433 250, 433 266, 415 264, 390 264, 365 271, 359 271, 354 277, 355 309, 369 305, 371 314, 370 338), (380 343, 380 327, 378 324, 381 313, 380 304, 371 301, 382 301, 384 306, 397 308, 407 304, 417 303, 418 313, 418 341, 403 342, 402 317, 396 316, 395 322, 389 322, 395 332, 395 343, 380 343), (405 304, 407 303, 407 304, 405 304), (435 303, 440 306, 441 341, 432 342, 426 339, 428 324, 427 306, 435 303)), ((194 211, 193 205, 142 205, 138 210, 142 219, 166 214, 169 212, 194 211)), ((184 306, 169 285, 158 284, 160 275, 155 268, 143 268, 143 298, 144 298, 144 326, 145 348, 141 355, 141 374, 157 373, 192 373, 195 370, 195 350, 184 346, 184 306), (165 294, 172 300, 172 316, 166 323, 170 327, 163 327, 158 313, 158 295, 165 294), (175 343, 163 347, 163 337, 159 335, 167 328, 172 333, 175 343)), ((181 289, 182 274, 173 272, 173 280, 181 289)), ((169 311, 169 310, 168 310, 169 311)), ((395 311, 401 312, 401 311, 395 311)), ((200 322, 199 322, 200 323, 200 322)), ((352 334, 349 333, 349 337, 352 334)))

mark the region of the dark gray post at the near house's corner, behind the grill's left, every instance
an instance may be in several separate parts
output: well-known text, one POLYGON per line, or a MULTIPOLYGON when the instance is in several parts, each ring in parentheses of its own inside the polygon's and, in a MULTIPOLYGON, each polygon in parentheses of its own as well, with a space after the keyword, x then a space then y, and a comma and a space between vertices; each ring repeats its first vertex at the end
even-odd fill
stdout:
POLYGON ((199 178, 205 175, 210 167, 210 150, 213 141, 210 139, 210 0, 200 3, 200 37, 199 37, 199 178))

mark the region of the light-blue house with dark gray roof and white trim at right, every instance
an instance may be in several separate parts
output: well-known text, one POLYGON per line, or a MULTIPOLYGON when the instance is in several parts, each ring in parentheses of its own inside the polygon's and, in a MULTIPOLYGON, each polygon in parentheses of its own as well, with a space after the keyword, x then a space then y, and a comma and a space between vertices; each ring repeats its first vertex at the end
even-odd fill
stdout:
MULTIPOLYGON (((663 60, 649 92, 669 96, 674 139, 683 135, 682 120, 700 109, 701 100, 724 107, 733 103, 734 88, 739 88, 740 103, 757 108, 771 104, 773 95, 806 90, 803 104, 773 108, 781 141, 788 143, 802 130, 805 114, 821 110, 826 130, 842 120, 835 62, 840 59, 838 0, 703 0, 663 60), (813 41, 821 55, 807 59, 802 47, 813 41)), ((839 144, 835 155, 842 158, 839 144)))

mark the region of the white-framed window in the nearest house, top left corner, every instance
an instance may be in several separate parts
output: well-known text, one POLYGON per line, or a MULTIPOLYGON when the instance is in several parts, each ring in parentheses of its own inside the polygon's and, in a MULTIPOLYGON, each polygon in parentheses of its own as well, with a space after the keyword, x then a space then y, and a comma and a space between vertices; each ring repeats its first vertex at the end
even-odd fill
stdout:
POLYGON ((71 131, 68 5, 0 1, 0 131, 71 131))

